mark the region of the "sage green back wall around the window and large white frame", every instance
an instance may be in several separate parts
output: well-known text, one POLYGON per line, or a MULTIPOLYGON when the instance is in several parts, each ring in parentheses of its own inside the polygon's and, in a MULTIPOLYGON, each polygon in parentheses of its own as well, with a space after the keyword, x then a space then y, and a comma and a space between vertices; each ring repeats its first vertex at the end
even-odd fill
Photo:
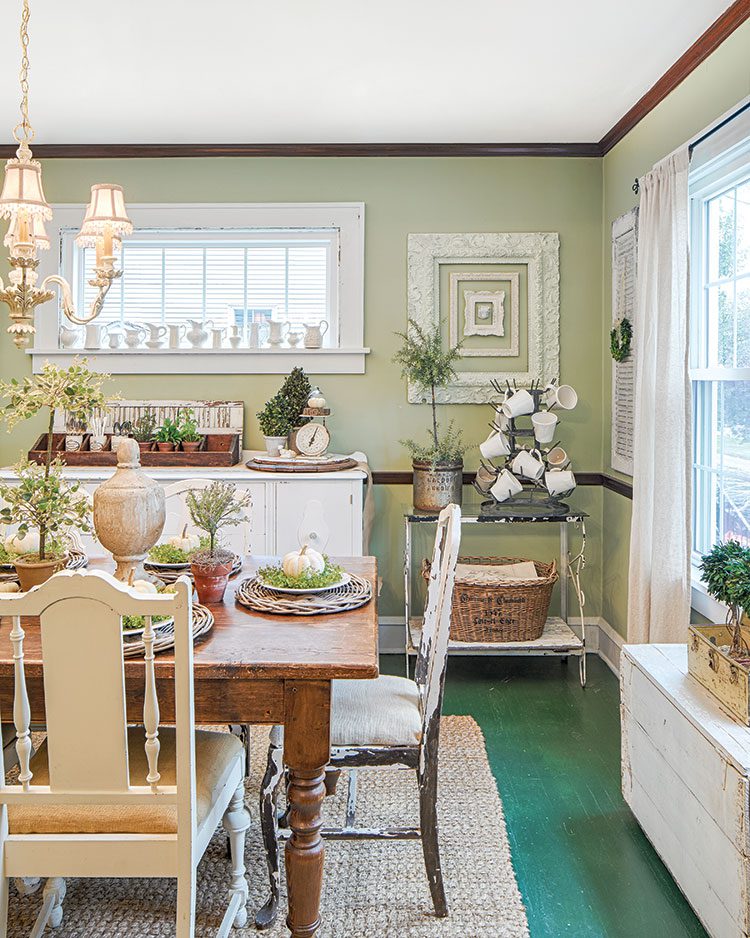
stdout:
MULTIPOLYGON (((596 159, 186 159, 46 160, 50 202, 83 202, 96 181, 114 180, 137 202, 363 201, 366 204, 365 344, 367 373, 320 377, 334 411, 333 445, 364 450, 376 469, 406 469, 399 438, 426 427, 427 411, 406 402, 406 388, 391 364, 393 333, 406 321, 406 236, 439 231, 558 231, 561 251, 561 374, 579 391, 578 408, 565 416, 564 445, 580 470, 601 468, 601 161, 596 159)), ((3 314, 4 315, 4 314, 3 314)), ((184 361, 189 359, 185 358, 184 361)), ((5 377, 28 372, 28 359, 0 340, 5 377)), ((122 376, 112 388, 127 397, 242 398, 247 442, 261 443, 255 412, 278 387, 278 376, 170 374, 122 376)), ((486 436, 488 408, 451 408, 467 439, 486 436)), ((39 427, 0 436, 0 462, 27 449, 39 427)), ((476 465, 476 452, 467 463, 476 465)), ((403 610, 401 516, 405 486, 378 487, 373 547, 384 577, 383 615, 403 610)), ((601 496, 579 490, 575 503, 592 514, 587 595, 600 608, 601 496)), ((507 529, 505 529, 507 531, 507 529)), ((556 553, 556 539, 517 528, 502 542, 467 539, 466 550, 540 558, 556 553), (513 542, 510 542, 511 537, 513 542)))

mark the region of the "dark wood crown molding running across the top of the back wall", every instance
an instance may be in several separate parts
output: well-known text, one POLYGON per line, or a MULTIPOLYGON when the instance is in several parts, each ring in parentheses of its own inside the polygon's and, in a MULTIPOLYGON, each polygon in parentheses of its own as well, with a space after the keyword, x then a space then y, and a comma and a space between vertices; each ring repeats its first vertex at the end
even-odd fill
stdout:
MULTIPOLYGON (((15 154, 15 145, 0 147, 0 156, 15 154)), ((107 143, 40 144, 40 159, 167 159, 175 157, 466 157, 466 156, 601 156, 598 143, 107 143)))

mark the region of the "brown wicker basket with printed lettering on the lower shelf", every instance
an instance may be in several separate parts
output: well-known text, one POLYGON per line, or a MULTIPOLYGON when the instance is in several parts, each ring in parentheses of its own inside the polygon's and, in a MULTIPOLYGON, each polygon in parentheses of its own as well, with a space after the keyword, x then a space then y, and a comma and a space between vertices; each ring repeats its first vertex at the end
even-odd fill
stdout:
MULTIPOLYGON (((523 563, 520 557, 460 557, 459 563, 505 566, 523 563)), ((456 578, 451 610, 451 638, 457 642, 532 642, 540 638, 547 621, 557 567, 532 561, 538 580, 503 580, 492 584, 462 582, 456 578)), ((430 575, 430 563, 422 564, 430 575)))

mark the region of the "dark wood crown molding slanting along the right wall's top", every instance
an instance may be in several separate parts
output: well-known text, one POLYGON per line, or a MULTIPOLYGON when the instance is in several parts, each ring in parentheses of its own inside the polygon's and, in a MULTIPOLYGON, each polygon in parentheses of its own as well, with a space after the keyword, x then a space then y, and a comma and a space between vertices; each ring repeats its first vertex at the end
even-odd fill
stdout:
POLYGON ((750 0, 735 0, 721 16, 713 22, 703 35, 683 53, 674 65, 652 85, 633 107, 624 114, 599 141, 601 155, 604 156, 622 140, 624 136, 640 123, 647 114, 681 84, 701 62, 750 17, 750 0))

